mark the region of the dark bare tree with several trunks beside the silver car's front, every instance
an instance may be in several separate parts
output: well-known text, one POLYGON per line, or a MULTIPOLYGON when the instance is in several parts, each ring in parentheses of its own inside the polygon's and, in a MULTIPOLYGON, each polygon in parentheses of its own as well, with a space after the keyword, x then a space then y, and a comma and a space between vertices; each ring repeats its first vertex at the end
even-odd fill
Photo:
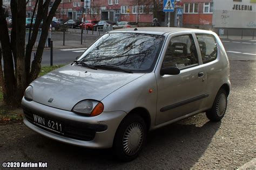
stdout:
POLYGON ((3 90, 4 102, 6 104, 19 105, 28 84, 35 80, 41 69, 42 54, 48 36, 48 29, 52 18, 61 0, 55 0, 49 11, 50 0, 36 0, 32 18, 37 10, 35 24, 29 29, 29 40, 25 46, 25 0, 11 0, 12 30, 9 38, 8 27, 5 20, 3 0, 0 0, 0 41, 2 53, 0 53, 0 86, 3 90), (42 24, 42 34, 35 58, 30 64, 31 53, 35 45, 39 26, 42 24), (32 31, 33 30, 33 31, 32 31))

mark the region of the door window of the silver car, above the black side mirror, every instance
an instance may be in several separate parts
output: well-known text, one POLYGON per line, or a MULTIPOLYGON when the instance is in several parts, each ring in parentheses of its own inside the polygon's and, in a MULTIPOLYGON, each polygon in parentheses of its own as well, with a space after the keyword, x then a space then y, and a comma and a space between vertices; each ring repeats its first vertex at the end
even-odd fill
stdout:
POLYGON ((163 68, 177 67, 179 69, 198 65, 198 55, 191 34, 173 37, 166 49, 163 68))

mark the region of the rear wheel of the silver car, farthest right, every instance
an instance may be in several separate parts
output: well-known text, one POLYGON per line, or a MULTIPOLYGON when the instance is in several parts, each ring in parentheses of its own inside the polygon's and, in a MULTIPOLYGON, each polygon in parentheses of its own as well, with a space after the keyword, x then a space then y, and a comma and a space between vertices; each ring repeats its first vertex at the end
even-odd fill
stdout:
POLYGON ((226 109, 227 92, 221 88, 215 97, 212 108, 206 111, 206 116, 210 121, 218 122, 224 117, 226 109))

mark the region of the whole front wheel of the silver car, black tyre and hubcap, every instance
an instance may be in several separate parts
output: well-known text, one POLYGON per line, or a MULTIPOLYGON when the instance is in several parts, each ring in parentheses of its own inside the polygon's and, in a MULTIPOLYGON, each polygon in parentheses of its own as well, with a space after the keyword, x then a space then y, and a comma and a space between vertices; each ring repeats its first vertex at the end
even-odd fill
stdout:
POLYGON ((113 152, 116 157, 125 162, 137 158, 145 144, 146 133, 146 124, 142 117, 135 114, 125 117, 114 137, 113 152))

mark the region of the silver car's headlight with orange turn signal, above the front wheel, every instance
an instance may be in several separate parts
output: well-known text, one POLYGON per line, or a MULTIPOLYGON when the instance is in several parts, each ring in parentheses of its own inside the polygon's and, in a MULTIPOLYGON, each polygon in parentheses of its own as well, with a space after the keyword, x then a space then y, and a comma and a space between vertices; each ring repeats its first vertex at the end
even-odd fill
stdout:
POLYGON ((97 116, 104 110, 102 102, 95 100, 84 100, 78 102, 72 111, 85 116, 97 116))

